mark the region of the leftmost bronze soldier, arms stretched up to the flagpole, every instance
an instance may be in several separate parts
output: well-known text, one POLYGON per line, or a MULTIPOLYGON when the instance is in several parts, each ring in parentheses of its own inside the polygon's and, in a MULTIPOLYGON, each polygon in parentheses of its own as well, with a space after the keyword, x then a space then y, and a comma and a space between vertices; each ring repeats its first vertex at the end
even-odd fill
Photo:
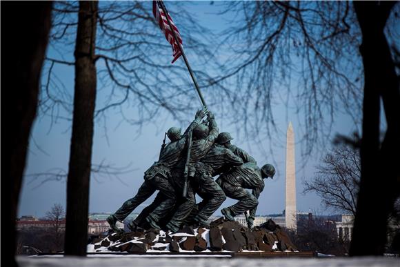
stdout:
POLYGON ((160 228, 159 220, 172 210, 177 199, 174 187, 170 184, 170 170, 181 159, 183 148, 187 144, 188 132, 199 125, 204 115, 203 110, 197 111, 194 121, 190 123, 183 135, 180 135, 180 128, 172 127, 168 130, 167 135, 171 141, 161 150, 159 161, 154 162, 144 173, 144 182, 137 195, 125 201, 114 214, 107 218, 112 230, 118 231, 119 229, 115 226, 116 222, 123 221, 130 212, 146 201, 156 190, 159 190, 158 205, 148 214, 146 221, 152 228, 160 228))

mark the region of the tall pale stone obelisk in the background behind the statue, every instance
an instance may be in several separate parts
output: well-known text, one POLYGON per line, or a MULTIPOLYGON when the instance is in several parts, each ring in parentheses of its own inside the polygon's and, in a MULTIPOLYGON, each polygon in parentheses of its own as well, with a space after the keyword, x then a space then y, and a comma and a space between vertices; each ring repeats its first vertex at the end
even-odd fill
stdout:
POLYGON ((286 228, 297 230, 296 218, 296 166, 294 163, 294 132, 289 122, 286 132, 286 194, 285 194, 286 228))

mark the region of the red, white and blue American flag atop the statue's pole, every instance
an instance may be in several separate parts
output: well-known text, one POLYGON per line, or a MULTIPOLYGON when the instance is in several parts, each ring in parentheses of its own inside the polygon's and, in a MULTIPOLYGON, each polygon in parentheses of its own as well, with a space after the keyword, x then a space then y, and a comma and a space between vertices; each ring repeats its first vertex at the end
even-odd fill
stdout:
MULTIPOLYGON (((167 41, 172 46, 172 56, 174 57, 174 59, 172 60, 171 63, 174 63, 177 59, 179 59, 179 57, 181 57, 182 52, 179 49, 179 45, 178 45, 177 41, 175 41, 175 39, 174 39, 174 35, 172 34, 170 25, 168 24, 168 21, 166 18, 166 14, 164 14, 163 9, 161 8, 160 1, 153 1, 153 14, 154 14, 154 18, 156 19, 156 21, 158 21, 161 30, 164 32, 164 34, 166 34, 167 41)), ((172 21, 170 14, 168 14, 168 19, 170 20, 172 28, 174 29, 174 32, 177 35, 177 39, 179 40, 179 43, 181 43, 181 47, 182 47, 181 34, 179 34, 179 30, 178 30, 177 26, 175 26, 174 21, 172 21)))

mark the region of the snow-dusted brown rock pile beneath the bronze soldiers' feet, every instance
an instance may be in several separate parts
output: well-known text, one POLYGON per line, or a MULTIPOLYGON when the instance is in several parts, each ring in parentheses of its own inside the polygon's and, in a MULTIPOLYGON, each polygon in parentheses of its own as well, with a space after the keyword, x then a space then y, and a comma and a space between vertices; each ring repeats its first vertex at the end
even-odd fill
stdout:
POLYGON ((88 252, 297 251, 288 234, 272 220, 252 230, 237 221, 226 221, 223 217, 210 225, 210 229, 184 226, 177 233, 154 229, 110 233, 92 237, 88 252))

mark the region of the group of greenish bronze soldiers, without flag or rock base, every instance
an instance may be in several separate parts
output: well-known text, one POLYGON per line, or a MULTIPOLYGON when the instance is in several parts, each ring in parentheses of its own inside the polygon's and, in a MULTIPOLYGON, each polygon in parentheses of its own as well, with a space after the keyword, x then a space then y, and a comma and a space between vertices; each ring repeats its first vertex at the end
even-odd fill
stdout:
POLYGON ((159 161, 146 170, 137 195, 108 217, 112 230, 119 231, 116 222, 123 221, 156 190, 159 193, 153 203, 128 228, 141 226, 176 232, 183 225, 208 227, 208 218, 226 197, 239 201, 221 210, 225 218, 234 220, 234 216, 244 212, 248 227, 252 228, 264 188, 263 178, 274 176, 274 166, 266 164, 259 168, 245 150, 230 144, 232 137, 228 132, 218 135, 214 116, 207 110, 199 110, 185 133, 180 133, 180 128, 168 130, 170 143, 166 145, 164 137, 159 161), (201 122, 205 115, 206 121, 201 122), (217 175, 215 181, 213 177, 217 175), (203 199, 199 204, 195 194, 203 199))

